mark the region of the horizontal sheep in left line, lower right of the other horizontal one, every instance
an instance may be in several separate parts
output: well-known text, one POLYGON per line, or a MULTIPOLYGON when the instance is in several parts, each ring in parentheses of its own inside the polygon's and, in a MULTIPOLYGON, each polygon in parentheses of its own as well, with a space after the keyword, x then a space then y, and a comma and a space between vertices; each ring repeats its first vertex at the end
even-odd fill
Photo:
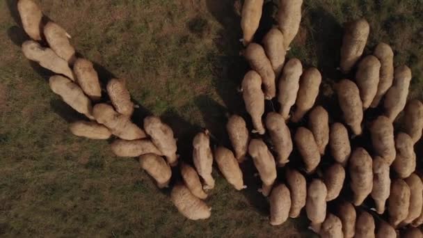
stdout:
POLYGON ((118 157, 138 157, 142 154, 163 156, 163 153, 149 139, 136 141, 115 140, 111 143, 111 151, 118 157))

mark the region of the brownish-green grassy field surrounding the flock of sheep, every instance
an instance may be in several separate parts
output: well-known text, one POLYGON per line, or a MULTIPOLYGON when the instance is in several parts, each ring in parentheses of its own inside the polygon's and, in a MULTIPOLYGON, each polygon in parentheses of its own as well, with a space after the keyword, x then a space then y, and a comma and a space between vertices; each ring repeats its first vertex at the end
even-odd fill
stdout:
MULTIPOLYGON (((45 14, 72 35, 79 54, 96 63, 102 79, 127 79, 134 120, 154 113, 179 138, 182 159, 207 127, 223 144, 225 116, 245 114, 237 87, 248 66, 239 56, 239 15, 232 0, 41 0, 45 14)), ((274 1, 277 2, 277 1, 274 1)), ((306 219, 280 227, 255 190, 236 192, 214 172, 216 189, 207 221, 188 221, 135 159, 113 157, 109 141, 68 132, 80 116, 51 93, 46 70, 19 46, 15 0, 0 1, 0 236, 1 237, 309 237, 306 219)), ((272 24, 269 2, 260 33, 272 24)), ((371 26, 366 53, 379 42, 395 52, 395 65, 413 70, 410 97, 423 99, 423 2, 420 0, 305 0, 301 31, 289 57, 324 76, 319 103, 333 101, 342 24, 365 17, 371 26)))

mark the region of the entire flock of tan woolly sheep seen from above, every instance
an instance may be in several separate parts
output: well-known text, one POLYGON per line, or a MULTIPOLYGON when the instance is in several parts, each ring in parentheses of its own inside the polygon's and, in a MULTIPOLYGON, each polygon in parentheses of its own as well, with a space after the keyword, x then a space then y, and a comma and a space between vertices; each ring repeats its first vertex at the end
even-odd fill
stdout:
POLYGON ((241 190, 246 185, 239 164, 252 158, 262 180, 260 191, 269 196, 271 225, 300 216, 304 208, 310 228, 321 237, 397 237, 396 230, 401 237, 423 237, 418 228, 423 223, 423 182, 415 173, 414 152, 422 136, 423 104, 417 100, 407 104, 410 69, 406 65, 394 68, 393 51, 384 43, 377 45, 373 55, 362 56, 369 24, 365 19, 346 24, 340 70, 356 70, 356 79, 342 79, 335 86, 344 122, 330 125, 328 111, 314 106, 321 84, 319 70, 303 70, 296 58, 285 63, 286 51, 301 22, 302 0, 280 0, 278 26, 260 44, 253 39, 263 3, 245 0, 241 13, 246 46, 242 54, 251 68, 241 89, 253 133, 258 135, 250 135, 244 118, 230 116, 226 128, 234 152, 223 146, 212 151, 208 132, 200 132, 193 139, 193 166, 178 164, 173 131, 158 117, 144 118, 143 128, 131 122, 135 105, 125 80, 109 80, 107 95, 102 95, 93 63, 77 58, 70 35, 54 22, 45 24, 33 1, 19 0, 17 7, 22 26, 32 38, 22 45, 24 55, 56 73, 49 79, 51 90, 89 119, 72 123, 72 134, 93 139, 117 137, 111 143, 113 153, 139 157, 141 168, 159 188, 168 187, 170 167, 179 166, 183 182, 175 184, 170 198, 186 218, 207 219, 211 215, 204 200, 207 191, 214 188, 214 161, 225 179, 241 190), (265 100, 275 97, 280 111, 264 115, 265 100), (352 148, 350 137, 362 134, 364 111, 379 104, 384 115, 368 123, 374 151, 369 154, 364 148, 352 148), (392 122, 403 110, 404 132, 394 133, 392 122), (287 121, 298 122, 305 116, 307 127, 292 128, 292 138, 287 121), (260 136, 266 132, 271 147, 260 136), (285 166, 294 145, 303 168, 285 166), (319 172, 325 153, 330 153, 333 163, 319 172), (285 178, 277 177, 277 167, 285 171, 285 178), (344 184, 351 198, 340 198, 344 184), (376 212, 362 206, 368 197, 374 200, 376 212), (337 200, 337 208, 329 212, 327 203, 333 200, 337 200), (376 222, 374 216, 380 218, 376 213, 388 217, 387 221, 376 222))

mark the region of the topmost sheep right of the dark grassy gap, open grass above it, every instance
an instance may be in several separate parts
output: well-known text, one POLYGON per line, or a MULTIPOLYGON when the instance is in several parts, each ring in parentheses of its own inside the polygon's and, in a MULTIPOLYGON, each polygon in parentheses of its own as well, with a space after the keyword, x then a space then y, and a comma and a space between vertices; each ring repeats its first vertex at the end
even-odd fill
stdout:
POLYGON ((369 37, 370 26, 365 19, 358 19, 346 24, 341 47, 342 72, 348 73, 364 51, 369 37))

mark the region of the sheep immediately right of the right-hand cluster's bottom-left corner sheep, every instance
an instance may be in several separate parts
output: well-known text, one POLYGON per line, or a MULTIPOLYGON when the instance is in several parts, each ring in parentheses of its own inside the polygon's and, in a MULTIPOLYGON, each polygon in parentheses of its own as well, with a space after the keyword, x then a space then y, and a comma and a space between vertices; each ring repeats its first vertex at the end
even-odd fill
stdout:
POLYGON ((291 209, 289 217, 297 218, 300 216, 301 209, 305 206, 307 198, 307 182, 305 177, 298 170, 287 169, 286 180, 289 191, 291 192, 291 209))

